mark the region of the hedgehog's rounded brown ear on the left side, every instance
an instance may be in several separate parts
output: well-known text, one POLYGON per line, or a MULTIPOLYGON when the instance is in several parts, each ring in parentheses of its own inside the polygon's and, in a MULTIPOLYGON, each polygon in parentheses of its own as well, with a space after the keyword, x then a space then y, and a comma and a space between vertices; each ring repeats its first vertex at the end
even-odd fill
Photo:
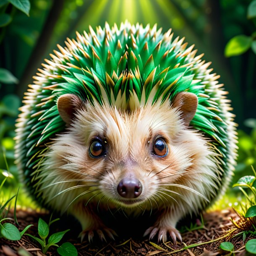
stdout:
POLYGON ((75 94, 63 94, 57 100, 57 109, 60 117, 67 125, 71 124, 76 110, 81 109, 82 105, 83 102, 75 94))

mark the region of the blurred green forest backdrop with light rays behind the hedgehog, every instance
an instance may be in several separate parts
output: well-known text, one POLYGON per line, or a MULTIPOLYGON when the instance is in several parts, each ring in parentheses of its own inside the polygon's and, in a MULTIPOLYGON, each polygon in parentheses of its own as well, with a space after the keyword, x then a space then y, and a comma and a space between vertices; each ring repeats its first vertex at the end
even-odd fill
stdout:
MULTIPOLYGON (((14 125, 37 68, 57 50, 57 43, 63 46, 76 31, 126 19, 144 26, 157 23, 163 31, 171 27, 175 36, 185 36, 198 54, 212 61, 219 82, 230 92, 239 125, 234 182, 251 173, 256 160, 256 0, 0 0, 0 184, 5 180, 0 201, 21 186, 14 163, 14 125)), ((229 191, 217 207, 235 203, 237 193, 229 191)), ((24 193, 18 204, 36 207, 24 193)))

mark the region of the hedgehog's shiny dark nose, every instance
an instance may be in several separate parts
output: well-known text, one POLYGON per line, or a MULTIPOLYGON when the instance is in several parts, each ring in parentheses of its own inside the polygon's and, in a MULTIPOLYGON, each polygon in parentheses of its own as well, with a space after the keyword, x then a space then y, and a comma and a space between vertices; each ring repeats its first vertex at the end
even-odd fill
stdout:
POLYGON ((142 192, 142 184, 136 178, 123 178, 118 184, 118 194, 125 198, 136 198, 142 192))

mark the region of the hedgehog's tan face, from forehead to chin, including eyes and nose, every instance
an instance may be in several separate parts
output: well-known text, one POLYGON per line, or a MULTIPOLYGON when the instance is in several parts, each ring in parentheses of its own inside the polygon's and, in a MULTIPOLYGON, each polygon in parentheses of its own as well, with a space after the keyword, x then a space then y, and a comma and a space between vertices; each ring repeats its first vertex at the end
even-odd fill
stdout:
POLYGON ((155 196, 158 178, 184 169, 175 160, 171 145, 181 126, 178 112, 168 103, 132 112, 88 105, 73 125, 75 138, 86 134, 84 161, 101 173, 102 194, 126 207, 143 204, 155 196), (165 115, 157 115, 159 109, 165 115), (94 145, 100 149, 99 156, 94 145))

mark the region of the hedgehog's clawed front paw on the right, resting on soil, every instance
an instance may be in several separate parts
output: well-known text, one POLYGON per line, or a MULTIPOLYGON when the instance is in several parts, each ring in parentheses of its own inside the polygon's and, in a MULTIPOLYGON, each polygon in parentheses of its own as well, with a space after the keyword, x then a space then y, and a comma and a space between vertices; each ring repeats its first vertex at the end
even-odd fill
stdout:
POLYGON ((172 238, 173 244, 176 244, 176 240, 180 240, 182 242, 182 237, 180 232, 175 227, 149 227, 144 236, 149 235, 149 240, 152 240, 158 233, 157 240, 160 241, 167 241, 167 236, 169 235, 172 238))

